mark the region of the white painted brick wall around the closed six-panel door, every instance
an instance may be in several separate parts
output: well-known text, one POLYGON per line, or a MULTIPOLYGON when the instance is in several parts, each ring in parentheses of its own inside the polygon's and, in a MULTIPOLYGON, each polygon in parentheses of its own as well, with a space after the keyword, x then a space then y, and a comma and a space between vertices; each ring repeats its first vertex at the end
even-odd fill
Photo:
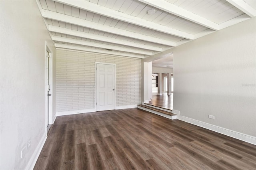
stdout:
POLYGON ((95 108, 95 62, 116 64, 116 106, 141 103, 141 60, 56 50, 56 111, 95 108))

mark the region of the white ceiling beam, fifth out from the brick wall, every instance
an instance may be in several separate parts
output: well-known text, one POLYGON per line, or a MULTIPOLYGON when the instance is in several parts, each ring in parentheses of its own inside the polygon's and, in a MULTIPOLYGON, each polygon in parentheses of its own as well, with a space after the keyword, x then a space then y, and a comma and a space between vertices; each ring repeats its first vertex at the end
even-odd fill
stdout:
POLYGON ((159 32, 164 32, 166 34, 170 34, 170 35, 173 35, 173 36, 178 36, 178 37, 186 38, 186 39, 189 39, 189 40, 194 39, 194 36, 192 34, 188 34, 186 32, 182 32, 182 31, 179 31, 179 30, 176 30, 176 29, 173 29, 173 28, 169 28, 169 27, 166 27, 166 26, 162 26, 160 24, 156 24, 154 22, 144 20, 142 18, 137 18, 135 16, 131 16, 131 15, 128 15, 128 14, 125 14, 125 13, 122 13, 122 12, 118 12, 116 10, 109 9, 109 8, 104 7, 104 6, 100 6, 100 5, 94 4, 94 3, 86 1, 86 0, 83 0, 83 1, 82 0, 73 0, 73 1, 70 1, 70 0, 54 0, 54 1, 60 2, 60 3, 63 3, 63 4, 67 4, 69 6, 73 6, 73 7, 76 7, 76 8, 80 8, 80 9, 83 9, 83 10, 87 10, 87 11, 90 11, 90 12, 93 12, 93 13, 96 13, 96 14, 100 14, 100 15, 103 15, 103 16, 107 16, 107 17, 110 17, 110 18, 114 18, 116 20, 121 20, 121 21, 124 21, 124 22, 128 22, 128 23, 131 23, 131 24, 135 24, 135 25, 142 26, 142 27, 145 27, 145 28, 149 28, 149 29, 152 29, 152 30, 156 30, 156 31, 159 31, 159 32))

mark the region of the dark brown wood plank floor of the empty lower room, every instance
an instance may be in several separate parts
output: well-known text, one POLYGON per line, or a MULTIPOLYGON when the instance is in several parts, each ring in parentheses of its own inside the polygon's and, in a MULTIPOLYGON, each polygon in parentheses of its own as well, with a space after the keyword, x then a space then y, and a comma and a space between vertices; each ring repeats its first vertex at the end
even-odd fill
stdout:
POLYGON ((34 170, 255 170, 256 146, 123 109, 57 117, 34 170))

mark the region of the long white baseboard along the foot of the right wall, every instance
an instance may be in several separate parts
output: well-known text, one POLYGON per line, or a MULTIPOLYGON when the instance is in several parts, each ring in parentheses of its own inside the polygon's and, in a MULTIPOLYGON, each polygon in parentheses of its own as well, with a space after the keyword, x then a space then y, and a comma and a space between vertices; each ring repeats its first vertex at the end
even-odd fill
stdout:
POLYGON ((184 121, 184 122, 187 122, 187 123, 191 123, 193 125, 197 125, 199 127, 207 128, 207 129, 212 130, 214 132, 225 134, 227 136, 242 140, 244 142, 248 142, 248 143, 256 145, 256 136, 251 136, 251 135, 236 132, 234 130, 230 130, 230 129, 227 129, 227 128, 218 127, 218 126, 215 126, 215 125, 211 125, 209 123, 204 123, 204 122, 201 122, 201 121, 198 121, 198 120, 195 120, 195 119, 191 119, 189 117, 178 116, 177 119, 179 119, 181 121, 184 121))

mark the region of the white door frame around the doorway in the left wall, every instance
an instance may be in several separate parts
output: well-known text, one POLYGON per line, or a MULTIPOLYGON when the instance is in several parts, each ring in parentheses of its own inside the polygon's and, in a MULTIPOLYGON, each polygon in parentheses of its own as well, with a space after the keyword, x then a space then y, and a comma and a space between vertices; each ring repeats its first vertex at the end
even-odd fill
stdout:
MULTIPOLYGON (((50 48, 47 46, 47 43, 45 41, 45 54, 44 54, 44 57, 45 57, 45 69, 47 67, 47 51, 49 53, 49 84, 50 84, 50 93, 53 94, 53 65, 52 65, 52 51, 50 50, 50 48)), ((47 72, 47 71, 46 71, 47 72)), ((48 124, 52 124, 53 123, 53 119, 52 119, 52 95, 51 96, 47 96, 47 91, 48 91, 48 86, 47 86, 47 75, 45 73, 45 91, 44 91, 44 94, 46 96, 45 98, 45 131, 46 131, 46 135, 47 135, 47 125, 48 124), (47 97, 49 97, 49 112, 47 111, 47 97), (47 114, 49 114, 49 117, 48 117, 48 122, 47 122, 47 114)))

